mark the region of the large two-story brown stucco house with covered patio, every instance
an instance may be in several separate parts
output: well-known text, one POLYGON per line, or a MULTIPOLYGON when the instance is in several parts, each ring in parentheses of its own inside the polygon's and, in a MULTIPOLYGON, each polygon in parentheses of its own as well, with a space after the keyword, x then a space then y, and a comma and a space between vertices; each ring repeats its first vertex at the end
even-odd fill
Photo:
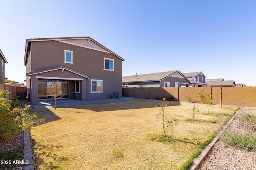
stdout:
POLYGON ((24 65, 32 104, 59 97, 80 100, 122 94, 122 57, 90 37, 26 39, 24 65))

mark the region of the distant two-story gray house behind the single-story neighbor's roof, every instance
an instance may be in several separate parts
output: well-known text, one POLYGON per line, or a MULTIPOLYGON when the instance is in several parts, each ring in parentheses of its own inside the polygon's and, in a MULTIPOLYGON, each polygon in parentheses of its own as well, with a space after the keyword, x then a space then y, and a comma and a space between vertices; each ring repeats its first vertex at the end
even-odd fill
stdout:
POLYGON ((183 75, 190 80, 189 87, 205 87, 205 78, 206 76, 203 72, 186 72, 183 75))

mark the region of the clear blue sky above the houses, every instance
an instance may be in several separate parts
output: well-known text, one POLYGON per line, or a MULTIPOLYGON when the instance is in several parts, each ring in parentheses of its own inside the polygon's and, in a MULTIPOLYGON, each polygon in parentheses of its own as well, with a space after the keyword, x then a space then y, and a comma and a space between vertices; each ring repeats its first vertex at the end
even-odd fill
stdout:
POLYGON ((123 76, 202 71, 256 86, 255 0, 1 0, 6 77, 23 82, 29 38, 89 36, 124 58, 123 76))

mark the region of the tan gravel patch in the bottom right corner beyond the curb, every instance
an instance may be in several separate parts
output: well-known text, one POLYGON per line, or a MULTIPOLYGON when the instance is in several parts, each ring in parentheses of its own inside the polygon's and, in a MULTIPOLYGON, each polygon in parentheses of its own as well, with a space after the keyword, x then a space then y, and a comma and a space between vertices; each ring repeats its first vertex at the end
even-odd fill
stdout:
POLYGON ((256 170, 256 152, 217 141, 196 170, 256 170))

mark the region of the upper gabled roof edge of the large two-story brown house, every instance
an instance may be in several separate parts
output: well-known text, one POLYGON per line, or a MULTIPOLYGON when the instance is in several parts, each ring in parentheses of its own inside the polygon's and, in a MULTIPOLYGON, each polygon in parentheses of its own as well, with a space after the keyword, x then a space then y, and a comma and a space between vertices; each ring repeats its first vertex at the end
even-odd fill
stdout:
POLYGON ((88 42, 93 41, 94 43, 96 43, 97 45, 102 47, 104 50, 108 51, 109 53, 112 53, 113 55, 115 55, 116 57, 118 57, 119 59, 124 61, 124 59, 122 57, 120 57, 116 53, 110 51, 109 49, 107 49, 106 47, 104 47, 103 45, 101 45, 100 43, 98 43, 97 41, 92 39, 91 37, 34 38, 34 39, 26 39, 24 65, 26 65, 26 62, 27 62, 27 57, 28 57, 28 52, 30 51, 31 42, 33 42, 33 41, 66 41, 66 40, 75 40, 75 39, 87 39, 88 42))

